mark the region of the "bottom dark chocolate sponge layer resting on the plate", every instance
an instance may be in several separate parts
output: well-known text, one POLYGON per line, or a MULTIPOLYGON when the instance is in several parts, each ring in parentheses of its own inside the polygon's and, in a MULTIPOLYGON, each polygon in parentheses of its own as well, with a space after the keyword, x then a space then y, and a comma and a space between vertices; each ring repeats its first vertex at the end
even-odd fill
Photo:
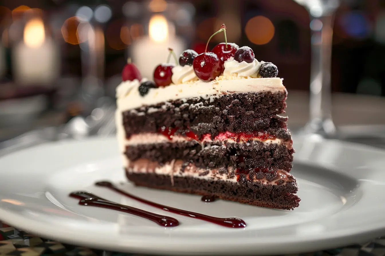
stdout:
POLYGON ((154 173, 132 173, 126 176, 137 186, 171 190, 182 193, 214 196, 224 200, 237 201, 249 205, 293 210, 298 207, 300 198, 296 182, 286 185, 261 185, 257 183, 234 183, 223 180, 204 180, 193 177, 171 177, 154 173))

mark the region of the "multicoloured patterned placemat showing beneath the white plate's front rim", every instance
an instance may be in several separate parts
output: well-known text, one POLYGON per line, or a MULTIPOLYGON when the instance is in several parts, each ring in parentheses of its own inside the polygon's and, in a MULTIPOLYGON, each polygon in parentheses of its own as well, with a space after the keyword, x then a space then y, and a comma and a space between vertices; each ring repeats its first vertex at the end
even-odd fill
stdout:
MULTIPOLYGON (((144 256, 143 254, 117 253, 64 244, 40 238, 17 230, 0 221, 0 255, 14 256, 144 256)), ((385 236, 374 241, 353 244, 313 253, 295 254, 301 256, 385 256, 385 236)), ((294 255, 293 255, 294 256, 294 255)))

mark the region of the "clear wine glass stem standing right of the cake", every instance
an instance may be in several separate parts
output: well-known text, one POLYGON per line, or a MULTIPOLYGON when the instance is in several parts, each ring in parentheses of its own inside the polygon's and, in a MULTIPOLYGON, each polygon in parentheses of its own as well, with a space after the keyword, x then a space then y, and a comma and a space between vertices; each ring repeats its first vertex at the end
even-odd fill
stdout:
POLYGON ((334 16, 311 17, 310 129, 335 133, 331 117, 331 46, 334 16), (322 28, 320 28, 322 24, 322 28))

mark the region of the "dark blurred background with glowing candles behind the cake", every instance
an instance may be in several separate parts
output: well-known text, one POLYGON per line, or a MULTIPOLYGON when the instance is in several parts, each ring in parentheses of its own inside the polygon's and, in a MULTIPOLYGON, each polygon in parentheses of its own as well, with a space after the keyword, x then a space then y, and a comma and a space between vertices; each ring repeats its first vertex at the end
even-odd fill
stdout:
MULTIPOLYGON (((337 2, 0 0, 0 141, 79 116, 88 127, 96 124, 112 115, 108 106, 128 58, 151 79, 168 47, 177 55, 188 48, 202 53, 222 23, 229 42, 248 45, 259 61, 278 66, 289 91, 289 124, 303 126, 311 44, 323 28, 314 17, 325 14, 320 3, 335 13, 333 119, 338 125, 383 125, 385 0, 337 2)), ((220 33, 209 48, 223 41, 220 33)))

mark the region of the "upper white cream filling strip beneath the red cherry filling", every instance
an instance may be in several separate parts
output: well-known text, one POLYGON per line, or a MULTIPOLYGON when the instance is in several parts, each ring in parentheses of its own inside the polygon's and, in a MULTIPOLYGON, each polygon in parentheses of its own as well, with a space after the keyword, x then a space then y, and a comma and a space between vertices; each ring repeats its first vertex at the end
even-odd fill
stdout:
MULTIPOLYGON (((132 134, 130 139, 126 139, 126 145, 138 145, 138 144, 150 144, 150 143, 162 143, 162 142, 168 142, 168 143, 175 143, 175 142, 186 142, 191 141, 192 139, 188 137, 184 137, 181 135, 172 135, 172 139, 169 140, 166 136, 163 134, 158 133, 141 133, 141 134, 132 134)), ((258 138, 252 138, 252 140, 255 141, 262 141, 258 138)), ((202 142, 212 142, 210 137, 205 136, 202 139, 202 142)), ((233 139, 226 139, 226 140, 214 140, 214 141, 227 141, 227 142, 236 142, 233 139)), ((244 143, 246 141, 243 141, 242 139, 239 140, 238 143, 244 143)), ((268 139, 262 141, 265 144, 281 144, 281 139, 268 139)))

